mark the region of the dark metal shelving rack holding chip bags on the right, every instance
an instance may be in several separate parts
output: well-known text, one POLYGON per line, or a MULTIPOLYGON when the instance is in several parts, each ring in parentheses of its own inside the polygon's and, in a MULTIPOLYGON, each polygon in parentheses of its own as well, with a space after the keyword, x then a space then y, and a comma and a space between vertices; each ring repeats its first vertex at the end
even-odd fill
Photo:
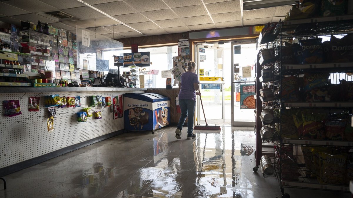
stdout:
MULTIPOLYGON (((338 16, 338 17, 319 17, 319 18, 310 18, 310 19, 300 19, 300 20, 290 20, 290 21, 279 21, 278 24, 279 31, 278 36, 275 41, 271 41, 267 43, 267 47, 273 46, 273 48, 280 47, 279 53, 275 57, 275 61, 280 67, 278 69, 274 69, 274 79, 263 79, 261 75, 261 64, 259 64, 259 54, 257 55, 257 80, 256 80, 256 95, 257 95, 257 113, 256 113, 256 155, 259 156, 262 154, 262 145, 261 141, 259 141, 258 135, 260 134, 260 129, 262 126, 262 120, 260 119, 260 113, 262 111, 261 107, 261 99, 259 96, 259 89, 261 89, 262 82, 273 81, 274 86, 278 85, 281 87, 282 79, 285 75, 298 75, 304 74, 304 72, 310 70, 311 72, 317 70, 318 72, 330 72, 330 73, 339 73, 339 72, 353 72, 353 63, 317 63, 317 64, 282 64, 282 41, 289 39, 298 39, 298 38, 310 38, 317 36, 329 36, 329 35, 342 35, 346 33, 353 32, 353 15, 346 16, 338 16)), ((276 31, 276 30, 275 30, 276 31)), ((264 44, 259 41, 260 44, 264 44)), ((271 60, 272 61, 272 60, 271 60)), ((275 66, 273 66, 275 67, 275 66)), ((301 139, 291 139, 291 138, 282 138, 282 113, 283 111, 289 109, 350 109, 353 108, 352 102, 283 102, 282 98, 279 94, 278 97, 274 98, 274 108, 277 108, 279 113, 275 113, 275 117, 278 118, 279 121, 279 130, 275 129, 275 133, 279 136, 278 140, 273 140, 274 152, 277 152, 281 155, 282 146, 288 146, 291 149, 297 149, 300 146, 336 146, 336 147, 353 147, 353 142, 349 141, 333 141, 333 140, 301 140, 301 139)), ((353 118, 352 118, 353 121, 353 118)), ((353 125, 353 124, 352 124, 353 125)), ((293 151, 293 155, 298 156, 298 152, 293 151), (295 154, 294 154, 295 153, 295 154)), ((318 189, 318 190, 333 190, 333 191, 347 191, 349 192, 348 186, 343 185, 330 185, 330 184, 318 184, 316 179, 309 179, 305 177, 305 163, 296 162, 298 165, 298 181, 290 181, 285 180, 282 177, 282 159, 276 159, 276 154, 273 153, 274 161, 273 166, 275 169, 274 175, 276 176, 281 192, 282 198, 289 198, 289 194, 284 193, 283 188, 307 188, 307 189, 318 189), (279 162, 279 163, 278 163, 279 162)), ((257 171, 257 168, 262 163, 261 156, 256 157, 256 167, 253 168, 254 171, 257 171)), ((261 167, 263 170, 263 167, 261 167)), ((264 175, 265 177, 265 175, 264 175)))

